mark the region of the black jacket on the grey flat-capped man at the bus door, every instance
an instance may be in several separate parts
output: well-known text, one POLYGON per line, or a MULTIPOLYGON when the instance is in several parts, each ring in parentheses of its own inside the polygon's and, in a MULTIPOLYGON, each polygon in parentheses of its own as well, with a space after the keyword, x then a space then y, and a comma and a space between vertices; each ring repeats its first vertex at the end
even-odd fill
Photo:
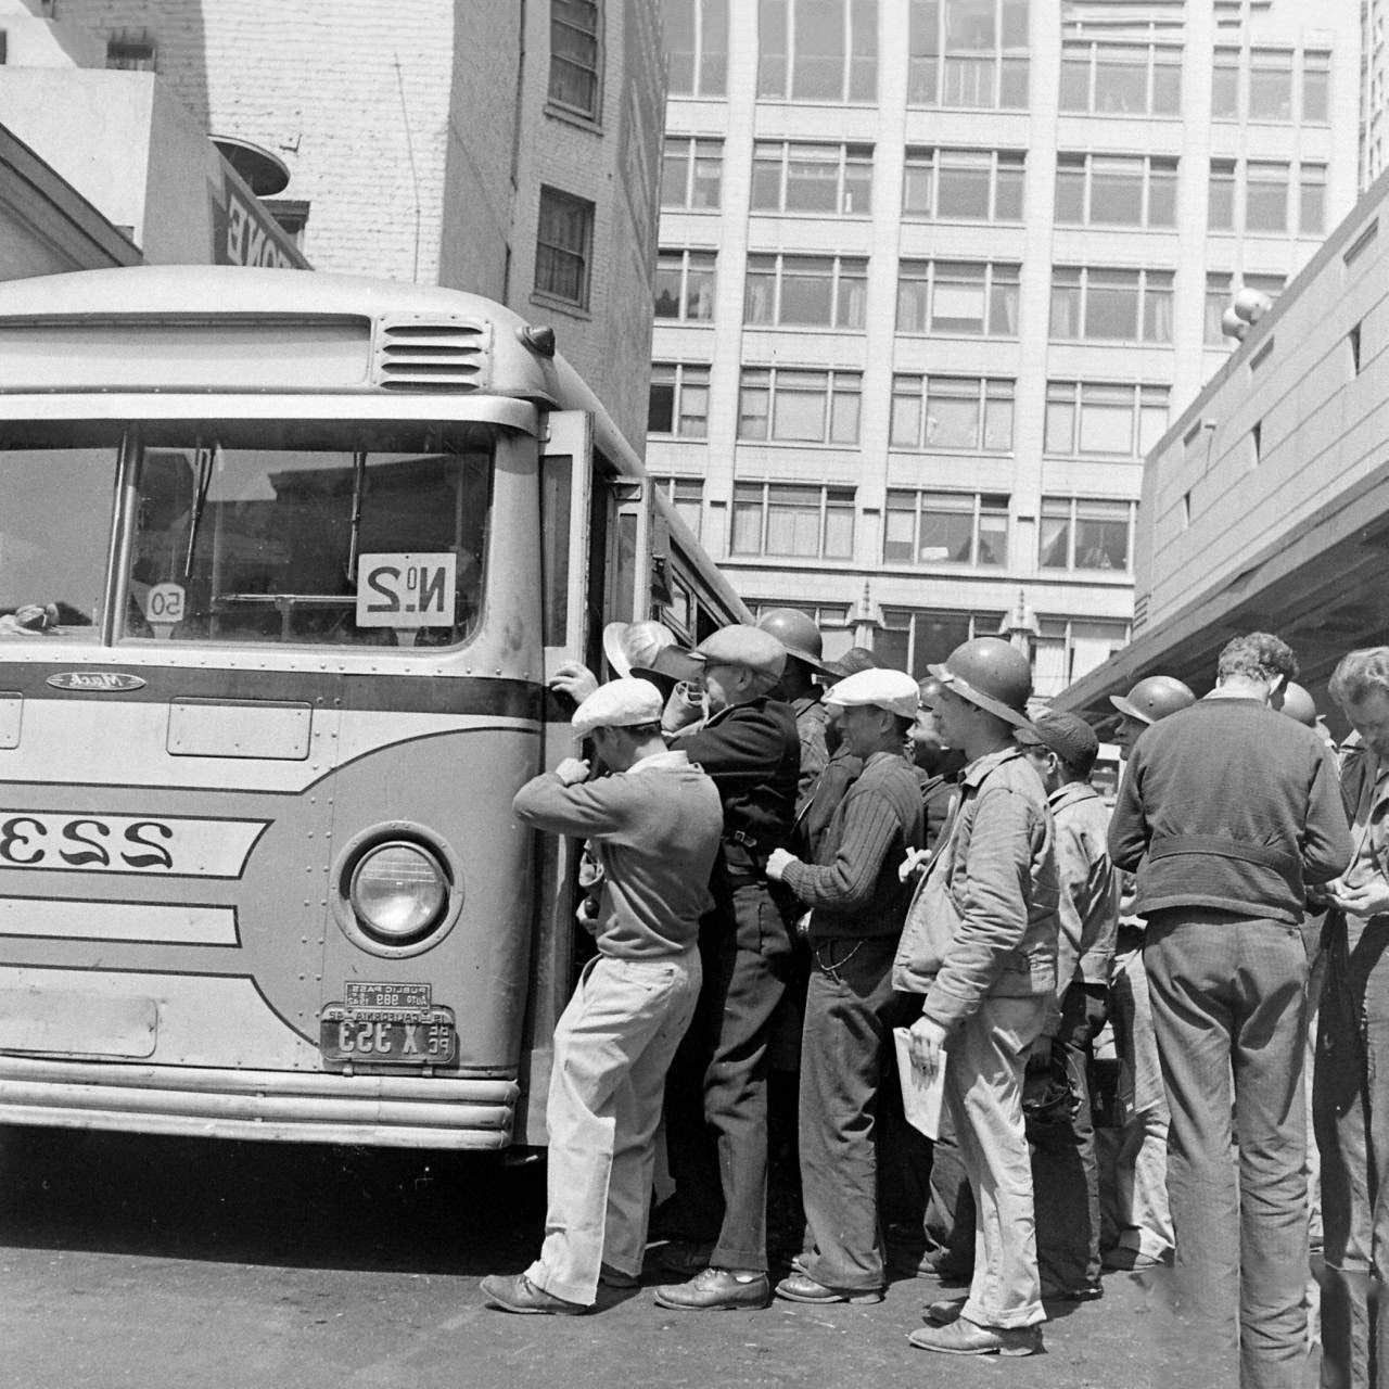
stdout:
POLYGON ((732 704, 676 733, 671 746, 714 778, 729 875, 760 876, 771 851, 790 839, 796 815, 800 735, 790 706, 765 694, 732 704))

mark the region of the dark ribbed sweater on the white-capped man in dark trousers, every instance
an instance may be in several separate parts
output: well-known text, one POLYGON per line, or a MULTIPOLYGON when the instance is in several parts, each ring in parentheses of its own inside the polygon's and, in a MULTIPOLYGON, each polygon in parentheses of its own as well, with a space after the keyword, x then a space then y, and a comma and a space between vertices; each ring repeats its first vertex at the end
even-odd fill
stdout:
POLYGON ((811 942, 897 935, 911 900, 897 868, 921 842, 913 770, 900 753, 874 753, 839 803, 815 863, 788 864, 782 876, 811 908, 811 942))

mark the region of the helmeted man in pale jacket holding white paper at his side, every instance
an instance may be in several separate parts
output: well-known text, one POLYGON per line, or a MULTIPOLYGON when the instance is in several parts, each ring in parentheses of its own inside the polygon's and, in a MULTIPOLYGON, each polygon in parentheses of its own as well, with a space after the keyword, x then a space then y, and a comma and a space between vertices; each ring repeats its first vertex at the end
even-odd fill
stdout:
POLYGON ((1032 1170, 1022 1076, 1056 989, 1057 876, 1051 814, 1013 740, 1028 726, 1026 658, 997 638, 965 642, 931 674, 945 740, 964 750, 958 810, 907 914, 896 988, 924 995, 914 1064, 945 1099, 978 1211, 978 1257, 963 1304, 933 1303, 911 1345, 956 1356, 1042 1349, 1032 1170))

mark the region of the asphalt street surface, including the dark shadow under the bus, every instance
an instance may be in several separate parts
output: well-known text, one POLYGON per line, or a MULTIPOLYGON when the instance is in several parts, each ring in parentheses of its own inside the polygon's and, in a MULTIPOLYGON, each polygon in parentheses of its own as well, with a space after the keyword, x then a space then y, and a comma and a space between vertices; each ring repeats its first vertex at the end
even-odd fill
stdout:
POLYGON ((0 1386, 1218 1385, 1125 1274, 1051 1308, 1045 1356, 1004 1361, 913 1350, 938 1295, 920 1279, 868 1307, 692 1314, 646 1290, 583 1318, 483 1307, 478 1279, 522 1270, 543 1218, 539 1164, 0 1128, 0 1386))

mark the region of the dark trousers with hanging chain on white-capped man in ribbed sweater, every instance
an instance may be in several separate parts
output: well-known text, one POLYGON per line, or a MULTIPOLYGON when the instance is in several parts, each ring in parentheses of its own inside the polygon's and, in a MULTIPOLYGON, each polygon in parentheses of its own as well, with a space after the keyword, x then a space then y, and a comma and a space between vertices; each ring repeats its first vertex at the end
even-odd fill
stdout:
POLYGON ((811 951, 800 1049, 806 1247, 796 1264, 826 1288, 885 1282, 875 1122, 896 951, 896 936, 825 940, 811 951))

